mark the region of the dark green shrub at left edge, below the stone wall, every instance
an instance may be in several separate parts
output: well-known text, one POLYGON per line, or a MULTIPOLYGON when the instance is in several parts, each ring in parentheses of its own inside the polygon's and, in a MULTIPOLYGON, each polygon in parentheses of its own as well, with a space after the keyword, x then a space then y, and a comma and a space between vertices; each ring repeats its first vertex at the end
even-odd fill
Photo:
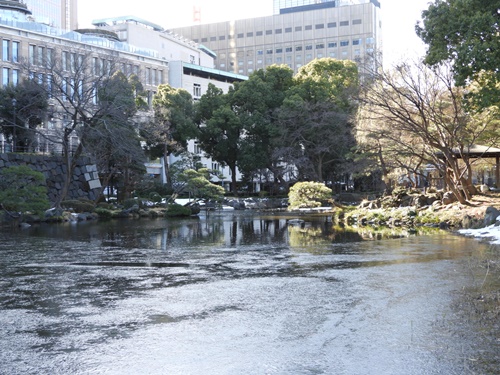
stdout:
POLYGON ((42 213, 50 207, 43 173, 27 166, 0 170, 0 205, 7 211, 42 213))

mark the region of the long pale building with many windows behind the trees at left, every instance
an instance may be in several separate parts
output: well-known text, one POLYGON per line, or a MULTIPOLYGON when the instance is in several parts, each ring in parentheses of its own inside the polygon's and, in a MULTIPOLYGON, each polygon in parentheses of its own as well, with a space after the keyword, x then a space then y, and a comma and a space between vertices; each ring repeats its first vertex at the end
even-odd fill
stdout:
MULTIPOLYGON (((84 59, 88 61, 89 74, 93 74, 94 71, 102 72, 103 69, 114 65, 126 75, 137 75, 148 92, 150 104, 160 84, 169 83, 173 87, 184 88, 196 100, 206 91, 209 83, 227 91, 235 81, 247 79, 242 75, 214 69, 213 52, 203 47, 199 48, 191 41, 137 18, 127 17, 126 20, 120 21, 115 19, 114 24, 111 22, 111 26, 116 27, 117 32, 103 28, 77 32, 33 22, 30 16, 29 9, 19 1, 0 2, 2 86, 15 86, 28 75, 50 84, 53 72, 48 69, 47 64, 57 61, 60 64, 60 73, 66 77, 64 85, 67 85, 67 92, 72 94, 79 90, 73 67, 84 59), (137 37, 138 34, 146 35, 146 39, 154 39, 156 42, 143 43, 140 47, 134 46, 120 41, 118 32, 126 33, 131 40, 137 42, 141 40, 137 37), (164 48, 149 49, 144 44, 164 48)), ((53 102, 54 100, 49 104, 50 109, 46 119, 41 124, 41 129, 46 135, 56 135, 57 132, 61 132, 67 121, 62 111, 57 108, 57 103, 53 102)), ((152 113, 146 112, 141 115, 147 118, 152 113)), ((10 141, 0 134, 0 153, 13 150, 10 141)), ((71 142, 74 145, 78 144, 78 138, 74 136, 71 142)), ((57 147, 57 144, 50 143, 47 138, 40 137, 35 151, 58 153, 60 150, 57 147)), ((218 180, 221 184, 230 180, 228 168, 224 170, 210 158, 206 158, 194 140, 189 143, 189 151, 199 155, 201 162, 207 168, 218 169, 225 173, 225 178, 218 180)), ((174 161, 175 158, 172 158, 170 163, 174 161)), ((159 170, 154 171, 157 167, 158 165, 152 166, 150 172, 161 174, 159 170)))

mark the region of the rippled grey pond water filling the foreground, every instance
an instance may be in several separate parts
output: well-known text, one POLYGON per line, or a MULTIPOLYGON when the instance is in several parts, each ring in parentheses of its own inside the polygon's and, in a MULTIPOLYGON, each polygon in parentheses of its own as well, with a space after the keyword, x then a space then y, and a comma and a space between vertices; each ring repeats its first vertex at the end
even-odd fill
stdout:
POLYGON ((494 373, 498 331, 463 311, 489 246, 291 219, 0 232, 0 373, 494 373))

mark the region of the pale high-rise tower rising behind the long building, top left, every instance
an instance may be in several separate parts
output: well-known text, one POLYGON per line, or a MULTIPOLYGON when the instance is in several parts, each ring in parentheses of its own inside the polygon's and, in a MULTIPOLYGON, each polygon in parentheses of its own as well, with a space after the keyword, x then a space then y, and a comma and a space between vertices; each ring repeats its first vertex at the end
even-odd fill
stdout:
POLYGON ((24 0, 33 18, 58 29, 78 27, 78 0, 24 0))

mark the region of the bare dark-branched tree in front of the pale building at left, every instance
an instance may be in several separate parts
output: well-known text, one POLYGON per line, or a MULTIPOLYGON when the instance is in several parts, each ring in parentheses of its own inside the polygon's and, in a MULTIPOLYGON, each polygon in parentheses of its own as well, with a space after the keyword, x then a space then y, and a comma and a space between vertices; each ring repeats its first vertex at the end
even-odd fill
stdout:
POLYGON ((49 98, 49 117, 60 126, 40 131, 62 153, 65 179, 55 202, 67 196, 77 159, 85 151, 85 139, 104 124, 126 124, 136 112, 123 82, 111 79, 121 66, 116 57, 98 55, 84 49, 47 50, 38 61, 25 61, 31 81, 49 98), (57 55, 57 56, 56 56, 57 55))

